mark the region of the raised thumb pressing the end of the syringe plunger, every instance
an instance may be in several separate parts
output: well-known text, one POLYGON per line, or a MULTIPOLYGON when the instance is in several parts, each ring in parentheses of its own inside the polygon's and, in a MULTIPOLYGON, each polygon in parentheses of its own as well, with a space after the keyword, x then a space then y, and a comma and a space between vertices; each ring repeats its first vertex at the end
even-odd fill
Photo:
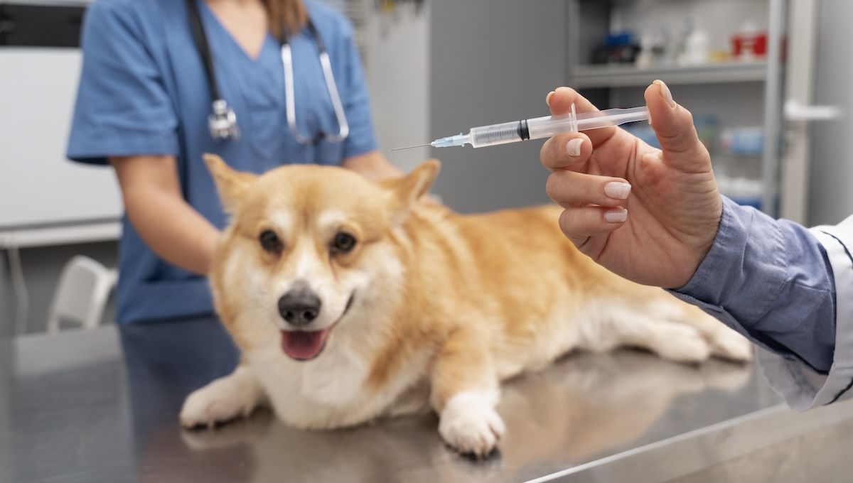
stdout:
POLYGON ((664 81, 654 81, 647 87, 645 96, 664 161, 682 168, 704 168, 708 163, 707 151, 693 127, 693 115, 672 100, 670 88, 664 81))

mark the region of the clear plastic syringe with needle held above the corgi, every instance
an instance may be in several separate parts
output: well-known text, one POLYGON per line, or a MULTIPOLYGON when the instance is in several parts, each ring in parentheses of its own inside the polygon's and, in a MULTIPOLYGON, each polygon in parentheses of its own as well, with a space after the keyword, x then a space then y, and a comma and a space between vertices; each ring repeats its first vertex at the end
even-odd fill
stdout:
POLYGON ((633 123, 646 119, 648 119, 648 109, 646 106, 631 107, 629 109, 606 109, 604 111, 581 112, 578 114, 575 112, 575 105, 572 104, 572 112, 568 114, 479 126, 471 128, 468 134, 459 133, 458 135, 439 138, 429 144, 397 147, 392 149, 392 151, 412 147, 451 147, 465 146, 466 144, 470 144, 472 147, 497 146, 498 144, 526 141, 529 139, 542 139, 543 137, 551 137, 558 134, 618 126, 619 124, 633 123))

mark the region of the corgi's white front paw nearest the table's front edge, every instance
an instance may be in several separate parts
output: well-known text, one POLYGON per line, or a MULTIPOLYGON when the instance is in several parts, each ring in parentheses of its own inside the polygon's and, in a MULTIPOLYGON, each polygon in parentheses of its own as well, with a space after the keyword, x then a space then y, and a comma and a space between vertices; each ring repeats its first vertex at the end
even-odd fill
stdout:
POLYGON ((456 394, 441 411, 438 433, 456 451, 485 457, 506 431, 495 404, 496 398, 488 394, 456 394))

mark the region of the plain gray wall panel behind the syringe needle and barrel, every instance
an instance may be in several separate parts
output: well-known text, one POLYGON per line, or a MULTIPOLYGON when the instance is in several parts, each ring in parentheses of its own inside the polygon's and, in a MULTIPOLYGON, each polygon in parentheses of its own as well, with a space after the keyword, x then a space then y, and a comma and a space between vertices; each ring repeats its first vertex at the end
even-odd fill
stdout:
MULTIPOLYGON (((545 95, 566 83, 565 0, 433 0, 430 139, 548 113, 545 95)), ((461 212, 548 202, 543 141, 432 149, 443 162, 434 189, 461 212)))

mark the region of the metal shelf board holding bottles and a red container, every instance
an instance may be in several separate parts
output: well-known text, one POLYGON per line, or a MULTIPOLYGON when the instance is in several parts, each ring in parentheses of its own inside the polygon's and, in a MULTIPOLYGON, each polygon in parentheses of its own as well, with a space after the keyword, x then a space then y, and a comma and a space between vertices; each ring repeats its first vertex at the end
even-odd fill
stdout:
POLYGON ((767 63, 730 62, 705 66, 638 69, 635 66, 601 65, 575 66, 572 72, 574 87, 641 87, 661 79, 676 85, 685 83, 763 82, 767 63))

